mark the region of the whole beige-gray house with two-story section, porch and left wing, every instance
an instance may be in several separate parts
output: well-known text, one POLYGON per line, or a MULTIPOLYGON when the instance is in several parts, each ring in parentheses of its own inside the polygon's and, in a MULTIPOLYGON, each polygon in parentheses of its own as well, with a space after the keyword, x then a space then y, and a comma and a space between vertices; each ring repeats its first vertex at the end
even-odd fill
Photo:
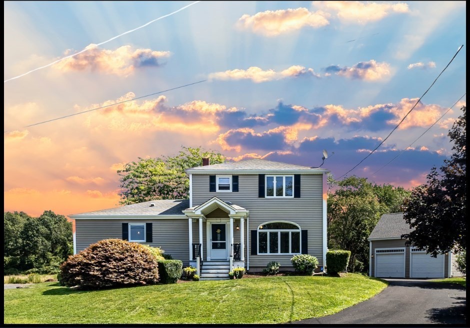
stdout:
POLYGON ((328 170, 251 159, 186 170, 189 199, 154 200, 71 215, 75 250, 107 238, 158 246, 201 279, 231 267, 258 272, 271 261, 310 254, 325 265, 328 170))

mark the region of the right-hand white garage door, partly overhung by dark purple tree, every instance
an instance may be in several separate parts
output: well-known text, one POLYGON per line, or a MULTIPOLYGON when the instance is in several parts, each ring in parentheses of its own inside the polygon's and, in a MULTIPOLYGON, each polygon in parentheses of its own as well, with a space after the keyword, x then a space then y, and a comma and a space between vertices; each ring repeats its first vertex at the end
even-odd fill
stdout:
POLYGON ((410 278, 444 278, 444 255, 433 258, 419 249, 411 249, 410 278))

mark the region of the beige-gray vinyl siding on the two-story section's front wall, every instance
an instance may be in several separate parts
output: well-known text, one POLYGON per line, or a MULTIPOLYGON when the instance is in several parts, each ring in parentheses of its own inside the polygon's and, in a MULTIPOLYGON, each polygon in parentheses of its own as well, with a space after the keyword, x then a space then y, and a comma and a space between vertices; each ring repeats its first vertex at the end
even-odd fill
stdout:
MULTIPOLYGON (((308 231, 308 254, 315 256, 319 266, 322 266, 322 178, 321 174, 301 175, 300 198, 259 198, 257 174, 239 175, 239 191, 229 193, 209 192, 209 175, 192 174, 192 205, 198 206, 216 196, 222 201, 245 208, 249 211, 247 234, 268 221, 296 223, 301 230, 308 231)), ((235 231, 235 236, 237 233, 239 232, 235 231)), ((251 235, 249 244, 251 249, 251 235)), ((279 262, 282 266, 291 266, 291 255, 251 255, 251 250, 249 253, 250 269, 265 267, 270 261, 279 262)))

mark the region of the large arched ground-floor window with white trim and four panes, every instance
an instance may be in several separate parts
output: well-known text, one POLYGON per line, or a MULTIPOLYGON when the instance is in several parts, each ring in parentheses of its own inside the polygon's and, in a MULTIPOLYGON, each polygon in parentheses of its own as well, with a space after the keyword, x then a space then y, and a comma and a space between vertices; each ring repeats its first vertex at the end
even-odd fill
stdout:
POLYGON ((290 222, 267 222, 258 227, 257 254, 300 254, 300 228, 290 222))

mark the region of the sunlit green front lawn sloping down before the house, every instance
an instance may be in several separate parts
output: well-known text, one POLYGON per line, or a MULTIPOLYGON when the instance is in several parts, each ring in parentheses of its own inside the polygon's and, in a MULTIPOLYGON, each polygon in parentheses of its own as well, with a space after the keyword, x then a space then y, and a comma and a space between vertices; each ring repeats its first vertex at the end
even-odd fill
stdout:
POLYGON ((5 324, 273 324, 322 317, 367 300, 386 282, 263 277, 74 291, 57 283, 5 290, 5 324))

